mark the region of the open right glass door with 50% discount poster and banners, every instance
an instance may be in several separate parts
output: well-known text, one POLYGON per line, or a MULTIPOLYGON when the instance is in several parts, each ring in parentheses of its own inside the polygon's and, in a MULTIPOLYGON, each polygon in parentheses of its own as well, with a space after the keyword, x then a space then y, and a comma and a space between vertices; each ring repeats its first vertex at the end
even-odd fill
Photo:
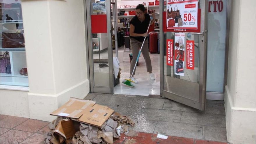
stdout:
POLYGON ((205 0, 160 0, 160 94, 205 110, 207 61, 205 0))

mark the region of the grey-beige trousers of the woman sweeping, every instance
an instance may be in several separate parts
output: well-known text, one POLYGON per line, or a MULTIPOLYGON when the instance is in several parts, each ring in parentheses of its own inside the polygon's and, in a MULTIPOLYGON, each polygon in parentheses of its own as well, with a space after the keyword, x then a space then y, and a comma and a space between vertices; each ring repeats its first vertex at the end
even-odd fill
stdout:
MULTIPOLYGON (((135 63, 136 63, 136 59, 137 56, 139 54, 139 50, 141 49, 141 45, 143 42, 140 42, 138 40, 135 39, 130 39, 130 47, 131 47, 131 51, 132 51, 132 60, 131 60, 131 67, 130 67, 130 74, 132 73, 135 63)), ((151 65, 151 60, 150 60, 150 56, 148 53, 148 40, 145 40, 143 48, 141 49, 141 53, 144 57, 144 60, 146 62, 146 67, 147 67, 147 72, 152 72, 152 65, 151 65)), ((135 74, 136 68, 134 70, 134 74, 135 74)))

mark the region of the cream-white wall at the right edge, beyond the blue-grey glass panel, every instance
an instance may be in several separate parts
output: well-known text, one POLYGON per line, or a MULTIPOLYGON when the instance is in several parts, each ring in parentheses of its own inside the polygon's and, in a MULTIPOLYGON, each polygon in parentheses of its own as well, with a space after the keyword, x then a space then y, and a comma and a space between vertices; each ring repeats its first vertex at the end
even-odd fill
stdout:
POLYGON ((228 142, 255 143, 255 0, 232 1, 225 110, 228 142))

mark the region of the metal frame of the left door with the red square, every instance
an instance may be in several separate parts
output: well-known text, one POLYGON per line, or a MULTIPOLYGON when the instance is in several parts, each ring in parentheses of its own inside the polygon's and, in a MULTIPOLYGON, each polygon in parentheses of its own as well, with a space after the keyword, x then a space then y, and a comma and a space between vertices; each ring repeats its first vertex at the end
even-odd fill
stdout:
POLYGON ((90 92, 91 93, 114 93, 114 80, 113 78, 113 54, 112 54, 112 37, 111 37, 111 0, 106 0, 106 15, 107 15, 107 35, 108 35, 108 59, 109 59, 109 87, 95 86, 94 85, 94 68, 93 68, 93 50, 92 47, 92 32, 91 32, 91 1, 83 0, 84 2, 84 17, 85 17, 85 33, 86 47, 88 53, 86 55, 88 79, 90 79, 90 92))

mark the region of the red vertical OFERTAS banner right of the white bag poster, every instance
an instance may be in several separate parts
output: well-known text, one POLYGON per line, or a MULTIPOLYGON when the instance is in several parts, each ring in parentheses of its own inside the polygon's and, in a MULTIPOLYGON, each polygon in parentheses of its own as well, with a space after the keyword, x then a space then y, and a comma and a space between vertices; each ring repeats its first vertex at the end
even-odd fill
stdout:
POLYGON ((187 48, 187 69, 194 70, 194 61, 195 61, 195 45, 193 40, 186 41, 186 48, 187 48))

